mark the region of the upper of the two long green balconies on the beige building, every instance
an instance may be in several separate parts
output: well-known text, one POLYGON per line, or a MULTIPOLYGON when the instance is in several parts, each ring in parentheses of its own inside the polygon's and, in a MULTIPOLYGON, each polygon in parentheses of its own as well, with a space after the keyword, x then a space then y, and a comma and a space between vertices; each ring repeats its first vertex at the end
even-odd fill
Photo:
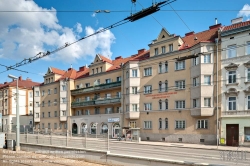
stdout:
POLYGON ((91 87, 87 87, 87 88, 71 90, 71 95, 80 95, 80 94, 84 94, 84 93, 90 93, 93 91, 103 91, 103 90, 107 90, 107 89, 117 88, 120 86, 121 86, 121 81, 107 83, 107 84, 100 84, 100 85, 91 86, 91 87))

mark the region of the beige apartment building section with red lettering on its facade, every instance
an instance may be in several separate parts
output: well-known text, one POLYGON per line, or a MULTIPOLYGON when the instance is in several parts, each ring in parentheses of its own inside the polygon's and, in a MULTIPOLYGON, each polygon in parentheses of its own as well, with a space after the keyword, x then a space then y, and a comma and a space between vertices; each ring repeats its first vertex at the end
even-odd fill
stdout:
POLYGON ((184 37, 162 29, 149 44, 150 57, 127 64, 125 75, 134 77, 137 71, 135 78, 125 79, 129 97, 124 126, 132 139, 140 135, 142 140, 216 143, 219 27, 184 37))

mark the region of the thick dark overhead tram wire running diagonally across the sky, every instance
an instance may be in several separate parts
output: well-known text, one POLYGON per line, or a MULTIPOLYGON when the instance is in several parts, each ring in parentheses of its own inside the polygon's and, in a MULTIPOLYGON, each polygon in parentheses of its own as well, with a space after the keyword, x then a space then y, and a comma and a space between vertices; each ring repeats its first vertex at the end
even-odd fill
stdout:
MULTIPOLYGON (((126 23, 128 23, 128 22, 137 21, 137 20, 139 20, 139 19, 141 19, 141 18, 144 18, 144 17, 146 17, 146 16, 148 16, 148 15, 150 15, 150 14, 153 14, 153 13, 159 11, 160 8, 161 8, 162 6, 165 6, 166 4, 170 4, 170 3, 172 3, 172 2, 174 2, 174 1, 176 1, 176 0, 172 0, 172 1, 170 1, 170 2, 168 2, 168 1, 169 1, 169 0, 166 0, 166 1, 163 1, 163 2, 160 2, 160 3, 156 3, 156 4, 152 5, 151 7, 146 8, 145 10, 142 10, 142 11, 140 11, 140 12, 137 12, 137 13, 135 13, 135 14, 133 14, 133 15, 131 15, 131 16, 129 16, 129 17, 127 17, 127 18, 121 20, 121 21, 118 21, 118 22, 116 22, 116 23, 114 23, 114 24, 112 24, 112 25, 110 25, 110 26, 104 28, 104 29, 101 29, 101 30, 99 30, 99 31, 96 31, 95 33, 93 33, 93 34, 91 34, 91 35, 88 35, 88 36, 85 36, 85 37, 83 37, 83 38, 81 38, 81 39, 79 39, 79 40, 76 40, 76 41, 74 41, 73 43, 65 43, 64 46, 61 46, 61 47, 59 47, 59 48, 57 48, 57 49, 55 49, 55 50, 53 50, 53 51, 51 51, 51 52, 50 52, 50 51, 47 51, 46 53, 40 52, 40 53, 38 53, 38 54, 37 54, 36 56, 34 56, 34 57, 31 57, 31 58, 28 58, 28 59, 24 59, 24 60, 21 61, 20 63, 16 63, 15 65, 6 67, 6 68, 7 68, 6 71, 15 69, 15 68, 17 68, 17 67, 20 67, 20 66, 23 66, 23 65, 26 65, 26 64, 29 64, 29 63, 32 63, 33 61, 36 61, 36 60, 41 59, 41 58, 43 58, 43 57, 49 56, 49 55, 51 55, 51 54, 54 54, 54 53, 56 53, 56 52, 58 52, 58 51, 60 51, 60 50, 62 50, 62 49, 65 49, 66 47, 68 47, 68 46, 70 46, 70 45, 72 45, 72 44, 75 44, 75 43, 77 43, 77 42, 79 42, 79 41, 81 41, 81 40, 84 40, 84 39, 88 38, 88 37, 94 36, 94 35, 96 35, 96 34, 98 34, 98 33, 101 33, 101 32, 107 31, 107 30, 110 30, 110 29, 115 28, 115 27, 117 27, 117 26, 121 26, 121 25, 126 24, 126 23)), ((3 71, 3 72, 6 72, 6 71, 3 71)), ((1 73, 3 73, 3 72, 1 72, 1 73)))

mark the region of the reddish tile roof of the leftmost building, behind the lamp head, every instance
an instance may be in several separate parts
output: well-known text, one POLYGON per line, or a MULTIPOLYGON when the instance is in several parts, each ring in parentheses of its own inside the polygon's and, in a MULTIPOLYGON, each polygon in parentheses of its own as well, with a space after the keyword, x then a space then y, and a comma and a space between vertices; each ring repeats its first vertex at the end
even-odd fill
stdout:
MULTIPOLYGON (((38 86, 38 85, 40 85, 40 83, 33 82, 31 79, 22 80, 19 77, 19 80, 18 80, 18 87, 19 88, 32 89, 33 86, 38 86)), ((14 80, 12 82, 7 82, 6 84, 2 84, 0 86, 1 89, 6 88, 6 87, 16 87, 16 80, 14 80)))

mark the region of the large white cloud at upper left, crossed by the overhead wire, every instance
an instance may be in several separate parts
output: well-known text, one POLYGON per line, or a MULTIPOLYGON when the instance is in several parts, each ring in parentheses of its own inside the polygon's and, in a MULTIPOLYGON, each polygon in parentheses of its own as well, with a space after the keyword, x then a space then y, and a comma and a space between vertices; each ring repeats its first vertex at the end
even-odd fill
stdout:
MULTIPOLYGON (((1 13, 0 58, 33 57, 39 52, 52 51, 67 42, 76 41, 80 38, 78 35, 83 29, 86 36, 96 31, 89 26, 82 28, 80 23, 76 23, 74 28, 61 26, 54 8, 41 8, 34 1, 0 0, 0 10, 43 11, 1 13)), ((111 45, 114 40, 115 36, 112 32, 105 31, 77 42, 45 59, 71 63, 79 58, 94 56, 97 53, 104 56, 112 55, 111 45)))

